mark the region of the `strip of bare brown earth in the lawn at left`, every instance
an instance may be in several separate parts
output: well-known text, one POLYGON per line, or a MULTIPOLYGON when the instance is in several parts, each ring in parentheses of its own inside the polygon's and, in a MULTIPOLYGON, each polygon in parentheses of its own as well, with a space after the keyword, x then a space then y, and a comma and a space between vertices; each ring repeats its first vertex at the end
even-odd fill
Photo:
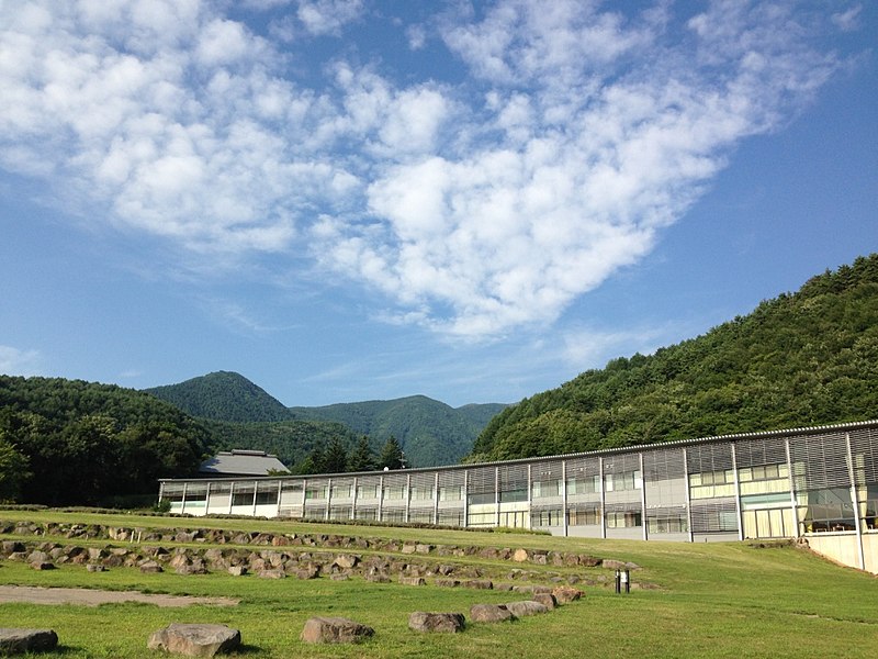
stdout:
POLYGON ((230 597, 190 597, 184 595, 146 594, 137 591, 101 591, 87 588, 36 588, 32 585, 0 585, 0 604, 24 602, 27 604, 79 604, 98 606, 119 602, 145 602, 156 606, 191 606, 213 604, 235 606, 239 600, 230 597))

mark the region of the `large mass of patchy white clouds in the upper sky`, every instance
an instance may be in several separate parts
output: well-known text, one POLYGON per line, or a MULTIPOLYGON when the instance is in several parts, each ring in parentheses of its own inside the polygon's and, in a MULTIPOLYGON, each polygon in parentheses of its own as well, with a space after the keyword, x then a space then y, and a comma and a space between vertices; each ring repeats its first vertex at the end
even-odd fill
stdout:
MULTIPOLYGON (((313 38, 380 19, 360 0, 249 7, 313 38)), ((466 338, 551 323, 643 258, 741 139, 838 66, 813 45, 820 16, 784 3, 500 0, 391 21, 462 80, 345 49, 297 76, 306 40, 221 8, 0 4, 0 167, 202 259, 309 255, 387 317, 466 338)))

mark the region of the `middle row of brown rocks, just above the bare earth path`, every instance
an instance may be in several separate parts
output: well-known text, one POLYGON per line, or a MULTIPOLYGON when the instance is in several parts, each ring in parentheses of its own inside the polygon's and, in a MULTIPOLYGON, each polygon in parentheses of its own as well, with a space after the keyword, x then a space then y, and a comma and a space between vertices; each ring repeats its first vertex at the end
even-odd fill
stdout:
MULTIPOLYGON (((164 572, 166 569, 179 574, 203 574, 209 571, 227 571, 234 576, 254 573, 266 579, 296 577, 316 579, 325 576, 330 579, 361 577, 369 581, 387 582, 398 578, 407 585, 421 585, 426 578, 432 578, 440 587, 469 587, 476 589, 515 590, 517 592, 539 592, 544 587, 497 583, 485 579, 483 568, 471 565, 442 563, 429 559, 412 560, 378 555, 333 554, 333 552, 286 552, 275 549, 250 551, 240 548, 206 549, 194 547, 138 546, 131 547, 80 547, 61 546, 55 543, 23 543, 3 540, 0 543, 0 557, 30 563, 35 569, 52 569, 58 565, 86 565, 98 571, 112 567, 139 568, 144 572, 164 572)), ((627 563, 631 566, 632 563, 627 563)), ((579 577, 562 576, 553 572, 533 572, 513 569, 505 574, 511 581, 548 580, 551 583, 585 583, 598 585, 607 583, 606 574, 579 577)))

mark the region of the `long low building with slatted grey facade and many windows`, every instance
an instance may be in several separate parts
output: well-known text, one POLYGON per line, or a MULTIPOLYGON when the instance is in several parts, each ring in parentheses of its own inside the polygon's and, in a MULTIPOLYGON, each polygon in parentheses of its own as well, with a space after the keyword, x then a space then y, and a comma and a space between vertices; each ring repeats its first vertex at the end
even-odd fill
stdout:
POLYGON ((429 469, 164 479, 159 499, 190 515, 643 540, 806 537, 878 573, 878 421, 429 469))

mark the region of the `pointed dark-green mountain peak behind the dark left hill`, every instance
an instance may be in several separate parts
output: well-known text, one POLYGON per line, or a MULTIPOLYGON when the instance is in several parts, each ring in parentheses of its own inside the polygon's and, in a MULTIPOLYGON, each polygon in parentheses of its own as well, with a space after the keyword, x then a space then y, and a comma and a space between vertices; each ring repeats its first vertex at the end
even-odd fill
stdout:
POLYGON ((290 411, 239 373, 217 371, 179 384, 145 389, 187 414, 214 421, 289 421, 290 411))

